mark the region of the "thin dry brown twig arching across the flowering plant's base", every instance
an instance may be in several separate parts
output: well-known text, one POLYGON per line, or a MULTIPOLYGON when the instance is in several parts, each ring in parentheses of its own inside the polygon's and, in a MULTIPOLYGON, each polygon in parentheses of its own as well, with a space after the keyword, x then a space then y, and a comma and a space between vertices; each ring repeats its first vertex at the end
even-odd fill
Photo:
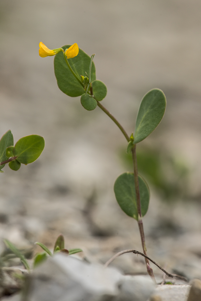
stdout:
POLYGON ((125 254, 125 253, 134 253, 134 254, 139 254, 143 257, 145 257, 148 261, 151 261, 153 264, 155 264, 159 269, 161 269, 168 277, 170 278, 177 278, 180 280, 184 280, 184 281, 188 281, 186 277, 184 276, 180 276, 180 275, 176 275, 176 274, 171 274, 168 273, 167 271, 164 270, 164 268, 162 268, 157 262, 155 262, 154 260, 152 260, 151 258, 149 258, 147 255, 141 253, 140 251, 137 251, 135 249, 128 249, 128 250, 124 250, 121 252, 118 252, 117 254, 115 254, 114 256, 112 256, 106 263, 105 263, 105 267, 107 267, 113 260, 115 260, 118 256, 125 254))

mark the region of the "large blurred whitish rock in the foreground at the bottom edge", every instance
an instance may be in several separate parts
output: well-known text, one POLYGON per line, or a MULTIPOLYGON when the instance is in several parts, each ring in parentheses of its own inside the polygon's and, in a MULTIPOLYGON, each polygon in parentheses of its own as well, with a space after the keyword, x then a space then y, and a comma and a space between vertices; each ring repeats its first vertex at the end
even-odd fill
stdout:
POLYGON ((151 279, 124 276, 115 268, 88 264, 56 254, 36 268, 29 301, 146 301, 154 290, 151 279))

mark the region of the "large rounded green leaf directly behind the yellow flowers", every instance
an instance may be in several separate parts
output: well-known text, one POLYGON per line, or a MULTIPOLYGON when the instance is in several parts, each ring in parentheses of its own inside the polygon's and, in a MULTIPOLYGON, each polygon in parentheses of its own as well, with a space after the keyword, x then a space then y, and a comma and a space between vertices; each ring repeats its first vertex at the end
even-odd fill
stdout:
MULTIPOLYGON (((62 48, 65 50, 70 46, 71 45, 64 45, 62 48)), ((68 59, 68 62, 75 74, 78 76, 78 78, 80 78, 80 75, 85 76, 85 72, 89 71, 90 60, 91 58, 82 49, 79 48, 78 55, 76 57, 68 59)), ((64 60, 63 52, 55 55, 54 68, 57 84, 62 92, 71 97, 81 96, 83 93, 85 93, 84 87, 80 85, 80 83, 69 70, 64 60)), ((95 79, 96 69, 94 63, 92 63, 91 80, 93 81, 95 79)))

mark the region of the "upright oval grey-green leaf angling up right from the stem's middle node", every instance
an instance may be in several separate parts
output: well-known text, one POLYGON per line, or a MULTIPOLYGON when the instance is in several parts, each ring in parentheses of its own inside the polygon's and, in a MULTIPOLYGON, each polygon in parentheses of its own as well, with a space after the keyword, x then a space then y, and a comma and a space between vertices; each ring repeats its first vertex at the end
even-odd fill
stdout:
POLYGON ((161 122, 166 108, 165 94, 160 89, 147 92, 138 110, 134 144, 149 136, 161 122))

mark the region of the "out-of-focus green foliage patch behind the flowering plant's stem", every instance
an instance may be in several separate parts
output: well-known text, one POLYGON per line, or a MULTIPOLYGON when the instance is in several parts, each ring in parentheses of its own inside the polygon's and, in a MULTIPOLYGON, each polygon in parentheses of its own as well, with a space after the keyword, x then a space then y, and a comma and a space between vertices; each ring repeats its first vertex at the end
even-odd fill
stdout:
MULTIPOLYGON (((125 149, 121 149, 119 155, 124 166, 132 171, 132 155, 125 149)), ((155 188, 162 200, 170 202, 186 198, 189 168, 181 157, 176 158, 163 149, 138 147, 137 163, 140 175, 155 188)))

